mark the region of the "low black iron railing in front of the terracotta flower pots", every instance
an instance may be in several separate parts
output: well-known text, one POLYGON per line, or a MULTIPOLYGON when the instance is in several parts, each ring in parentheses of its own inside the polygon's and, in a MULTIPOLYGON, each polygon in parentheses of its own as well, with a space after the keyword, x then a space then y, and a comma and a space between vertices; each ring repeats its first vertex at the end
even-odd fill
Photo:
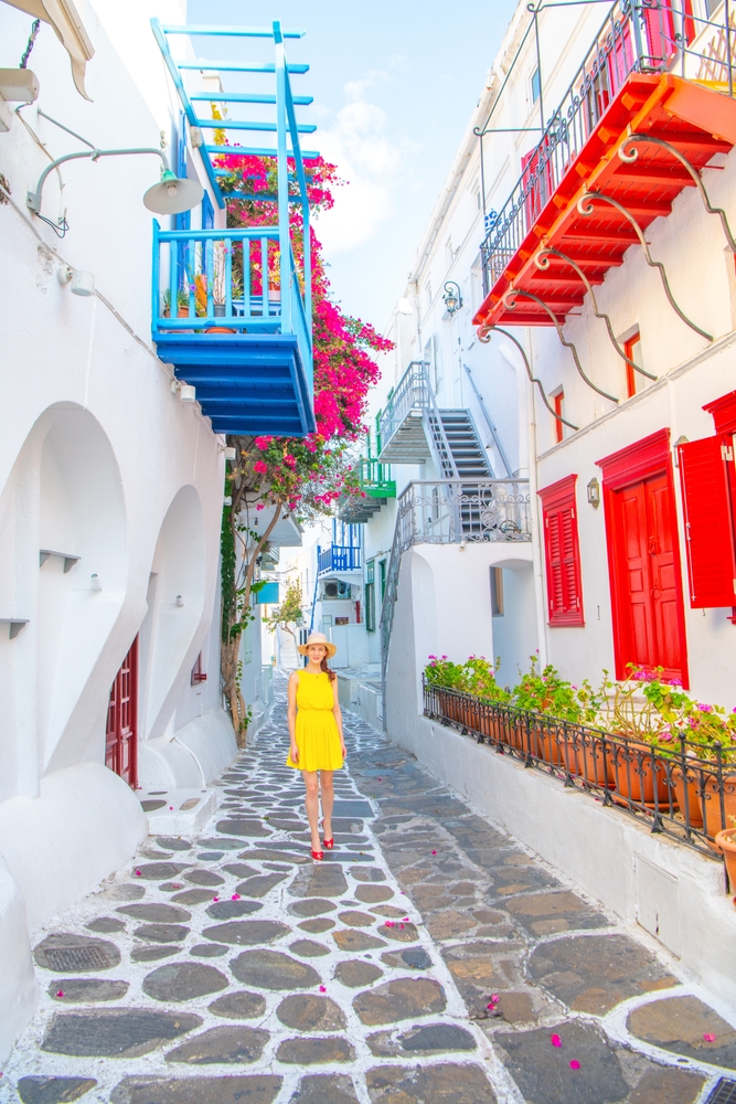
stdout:
POLYGON ((710 858, 716 834, 736 826, 736 761, 718 744, 682 735, 669 751, 426 680, 424 713, 710 858))

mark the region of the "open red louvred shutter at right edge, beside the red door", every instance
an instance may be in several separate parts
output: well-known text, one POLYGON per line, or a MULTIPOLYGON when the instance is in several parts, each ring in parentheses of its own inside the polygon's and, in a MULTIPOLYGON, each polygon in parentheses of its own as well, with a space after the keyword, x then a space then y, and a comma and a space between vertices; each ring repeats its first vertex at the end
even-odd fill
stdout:
POLYGON ((734 606, 736 562, 726 467, 733 463, 733 444, 725 444, 723 437, 705 437, 680 445, 678 450, 690 604, 694 609, 734 606))

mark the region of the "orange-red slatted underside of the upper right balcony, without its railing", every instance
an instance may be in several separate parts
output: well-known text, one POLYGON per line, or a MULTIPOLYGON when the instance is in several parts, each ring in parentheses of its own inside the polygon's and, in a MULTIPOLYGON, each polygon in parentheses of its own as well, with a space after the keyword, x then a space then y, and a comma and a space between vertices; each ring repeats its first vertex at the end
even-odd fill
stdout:
POLYGON ((553 256, 547 269, 536 266, 534 257, 545 246, 567 254, 594 285, 602 284, 609 268, 622 264, 623 254, 638 241, 634 230, 620 212, 601 202, 594 204, 593 215, 582 215, 577 202, 587 191, 617 200, 646 230, 654 219, 670 214, 684 188, 695 187, 661 146, 638 141, 637 160, 621 160, 617 150, 629 134, 662 138, 702 169, 715 153, 736 145, 736 100, 670 74, 629 76, 491 288, 473 319, 476 326, 553 325, 538 304, 523 296, 510 297, 515 307, 509 307, 505 297, 513 290, 538 296, 559 322, 580 307, 586 288, 569 265, 553 256))

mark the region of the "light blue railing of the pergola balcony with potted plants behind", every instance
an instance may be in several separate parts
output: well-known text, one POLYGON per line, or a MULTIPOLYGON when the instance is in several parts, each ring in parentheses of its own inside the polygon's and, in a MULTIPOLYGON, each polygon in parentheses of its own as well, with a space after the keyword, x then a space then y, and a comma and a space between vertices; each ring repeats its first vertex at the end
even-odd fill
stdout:
POLYGON ((161 230, 154 221, 154 336, 294 335, 311 388, 311 328, 290 247, 288 279, 280 262, 278 226, 161 230))

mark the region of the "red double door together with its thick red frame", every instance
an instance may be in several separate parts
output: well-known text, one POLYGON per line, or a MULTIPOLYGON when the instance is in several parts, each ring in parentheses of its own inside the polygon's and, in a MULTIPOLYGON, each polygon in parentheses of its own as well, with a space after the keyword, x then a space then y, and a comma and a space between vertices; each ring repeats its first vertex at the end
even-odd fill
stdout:
POLYGON ((599 461, 604 499, 616 677, 627 665, 687 684, 684 605, 669 433, 599 461), (627 475, 627 467, 629 473, 627 475))

